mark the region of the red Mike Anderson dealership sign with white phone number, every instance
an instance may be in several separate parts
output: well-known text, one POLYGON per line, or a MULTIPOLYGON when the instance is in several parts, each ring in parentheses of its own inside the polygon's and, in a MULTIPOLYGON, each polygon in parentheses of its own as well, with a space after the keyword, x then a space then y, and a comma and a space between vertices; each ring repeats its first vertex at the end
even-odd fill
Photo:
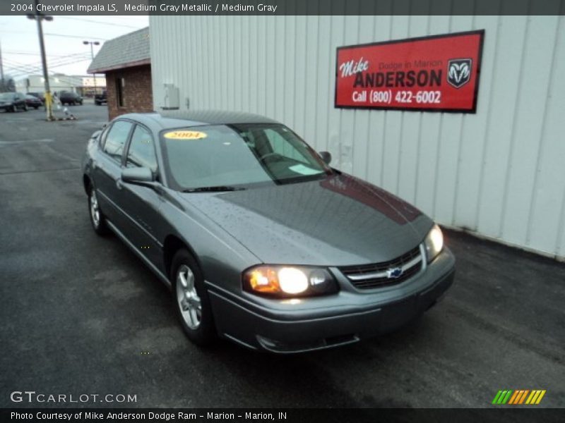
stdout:
POLYGON ((335 107, 475 113, 484 30, 338 47, 335 107))

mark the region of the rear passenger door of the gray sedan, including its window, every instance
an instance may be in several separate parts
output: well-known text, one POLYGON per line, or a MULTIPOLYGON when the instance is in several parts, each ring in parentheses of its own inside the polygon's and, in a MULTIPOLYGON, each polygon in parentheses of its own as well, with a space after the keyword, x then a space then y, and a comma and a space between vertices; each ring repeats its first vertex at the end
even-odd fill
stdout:
POLYGON ((130 121, 114 121, 103 135, 102 151, 93 161, 94 183, 100 209, 119 231, 124 231, 127 218, 120 209, 119 183, 124 160, 124 149, 129 140, 133 123, 130 121))

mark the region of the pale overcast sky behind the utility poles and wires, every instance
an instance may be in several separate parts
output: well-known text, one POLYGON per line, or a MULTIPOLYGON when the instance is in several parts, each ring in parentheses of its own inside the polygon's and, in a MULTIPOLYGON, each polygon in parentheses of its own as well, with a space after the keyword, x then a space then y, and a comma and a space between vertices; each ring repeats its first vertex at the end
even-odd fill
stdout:
MULTIPOLYGON (((120 35, 149 25, 148 16, 54 16, 43 21, 45 53, 49 75, 87 75, 90 45, 97 41, 94 54, 102 44, 120 35)), ((0 16, 0 47, 4 74, 15 80, 42 74, 37 23, 25 16, 0 16)))

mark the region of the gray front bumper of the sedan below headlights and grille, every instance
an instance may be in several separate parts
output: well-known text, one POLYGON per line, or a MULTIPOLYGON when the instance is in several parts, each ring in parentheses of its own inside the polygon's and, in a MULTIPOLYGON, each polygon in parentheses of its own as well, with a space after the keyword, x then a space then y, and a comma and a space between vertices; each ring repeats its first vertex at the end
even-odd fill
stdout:
POLYGON ((397 286, 359 291, 331 269, 340 293, 321 298, 237 297, 208 284, 220 336, 273 353, 300 353, 355 343, 398 329, 432 307, 453 283, 455 259, 446 248, 424 270, 397 286))

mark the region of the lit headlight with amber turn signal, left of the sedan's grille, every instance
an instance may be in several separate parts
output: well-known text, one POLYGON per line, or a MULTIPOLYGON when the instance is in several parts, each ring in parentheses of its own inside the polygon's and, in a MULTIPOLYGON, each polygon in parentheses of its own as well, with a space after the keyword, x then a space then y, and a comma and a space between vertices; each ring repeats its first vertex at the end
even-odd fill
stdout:
POLYGON ((243 288, 277 298, 338 292, 338 284, 327 269, 309 266, 254 266, 244 271, 243 288))

